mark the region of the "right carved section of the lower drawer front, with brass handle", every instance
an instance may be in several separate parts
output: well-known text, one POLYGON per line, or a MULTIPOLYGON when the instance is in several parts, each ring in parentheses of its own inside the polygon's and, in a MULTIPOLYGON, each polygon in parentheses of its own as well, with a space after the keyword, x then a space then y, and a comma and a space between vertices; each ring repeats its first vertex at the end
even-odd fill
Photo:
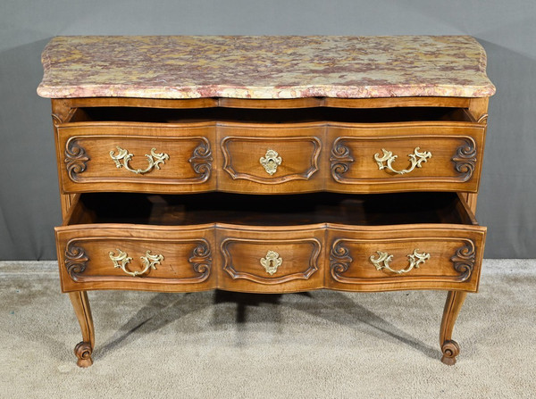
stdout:
POLYGON ((430 288, 475 292, 485 233, 482 227, 454 225, 330 229, 326 286, 350 291, 430 288))

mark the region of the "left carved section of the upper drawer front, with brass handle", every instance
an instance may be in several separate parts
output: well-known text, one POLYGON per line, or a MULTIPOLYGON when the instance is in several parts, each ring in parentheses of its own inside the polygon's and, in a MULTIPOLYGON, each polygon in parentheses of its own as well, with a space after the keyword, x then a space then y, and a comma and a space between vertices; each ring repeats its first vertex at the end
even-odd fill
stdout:
POLYGON ((214 189, 214 127, 65 124, 58 128, 63 193, 214 189))

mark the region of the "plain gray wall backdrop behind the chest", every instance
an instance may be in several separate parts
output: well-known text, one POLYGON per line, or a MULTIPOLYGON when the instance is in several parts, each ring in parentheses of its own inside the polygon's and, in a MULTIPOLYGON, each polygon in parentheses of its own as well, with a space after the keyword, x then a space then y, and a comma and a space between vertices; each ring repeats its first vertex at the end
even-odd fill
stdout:
POLYGON ((40 54, 59 35, 472 35, 498 87, 477 217, 486 257, 536 258, 534 0, 0 0, 0 260, 55 259, 61 223, 40 54))

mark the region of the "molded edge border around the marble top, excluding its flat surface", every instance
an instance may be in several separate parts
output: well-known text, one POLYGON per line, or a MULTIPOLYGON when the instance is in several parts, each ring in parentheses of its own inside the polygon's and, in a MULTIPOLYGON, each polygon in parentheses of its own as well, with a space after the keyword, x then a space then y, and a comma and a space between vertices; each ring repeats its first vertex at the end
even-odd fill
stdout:
MULTIPOLYGON (((186 36, 184 36, 186 37, 186 36)), ((246 38, 259 38, 255 36, 241 36, 246 38)), ((331 40, 344 40, 356 37, 333 37, 327 36, 331 40)), ((434 36, 396 36, 400 40, 411 40, 414 38, 433 38, 434 36)), ((219 84, 193 84, 193 85, 164 85, 148 84, 149 82, 121 82, 118 84, 103 83, 91 84, 80 81, 78 85, 69 84, 51 84, 48 77, 54 68, 54 62, 51 60, 51 49, 58 41, 69 40, 71 37, 54 37, 45 47, 41 56, 44 68, 44 77, 38 86, 38 95, 47 98, 79 98, 79 97, 138 97, 138 98, 160 98, 160 99, 188 99, 188 98, 207 98, 207 97, 226 97, 226 98, 250 98, 250 99, 290 99, 305 97, 334 97, 334 98, 377 98, 377 97, 407 97, 407 96, 454 96, 454 97, 489 97, 495 94, 496 88, 490 82, 486 75, 487 56, 483 46, 470 36, 437 36, 454 37, 459 40, 465 39, 472 42, 478 48, 480 57, 478 60, 478 71, 470 71, 476 76, 478 84, 462 83, 381 83, 376 85, 364 84, 310 84, 310 85, 274 85, 274 86, 257 86, 257 85, 219 85, 219 84), (480 76, 479 76, 480 75, 480 76)), ((76 39, 88 40, 106 40, 110 37, 95 36, 75 36, 76 39)), ((165 37, 121 37, 116 36, 112 39, 158 39, 165 37)), ((180 38, 180 37, 172 37, 180 38)), ((239 39, 240 37, 214 37, 214 36, 190 36, 190 38, 217 38, 217 39, 239 39)), ((273 37, 260 37, 273 38, 273 37)), ((280 37, 277 37, 280 38, 280 37)), ((297 37, 292 37, 297 38, 297 37)), ((305 37, 307 38, 307 37, 305 37)), ((310 37, 309 37, 310 38, 310 37)), ((322 37, 314 37, 322 38, 322 37)), ((393 38, 390 37, 364 37, 364 38, 393 38)))

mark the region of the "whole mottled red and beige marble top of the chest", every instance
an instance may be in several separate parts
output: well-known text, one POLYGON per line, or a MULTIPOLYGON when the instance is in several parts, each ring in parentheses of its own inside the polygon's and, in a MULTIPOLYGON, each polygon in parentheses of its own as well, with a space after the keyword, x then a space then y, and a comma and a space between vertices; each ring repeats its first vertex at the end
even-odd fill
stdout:
POLYGON ((38 95, 143 98, 487 97, 468 36, 75 36, 42 54, 38 95))

